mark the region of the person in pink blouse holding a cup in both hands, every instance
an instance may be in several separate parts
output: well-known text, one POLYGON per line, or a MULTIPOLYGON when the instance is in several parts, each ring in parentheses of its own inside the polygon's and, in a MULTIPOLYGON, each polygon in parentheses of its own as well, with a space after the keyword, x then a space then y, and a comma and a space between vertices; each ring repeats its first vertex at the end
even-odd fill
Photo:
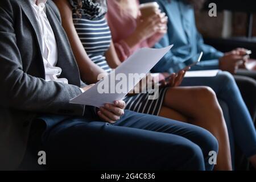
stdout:
POLYGON ((154 46, 167 31, 167 16, 156 9, 142 18, 137 0, 109 0, 107 19, 120 61, 138 48, 154 46))

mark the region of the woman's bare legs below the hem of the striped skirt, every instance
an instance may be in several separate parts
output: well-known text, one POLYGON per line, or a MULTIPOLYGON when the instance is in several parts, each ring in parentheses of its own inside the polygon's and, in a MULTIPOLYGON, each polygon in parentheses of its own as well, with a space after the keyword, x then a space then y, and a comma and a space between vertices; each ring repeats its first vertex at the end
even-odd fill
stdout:
POLYGON ((228 131, 222 110, 212 89, 204 86, 170 88, 166 92, 159 115, 187 121, 210 131, 219 143, 215 169, 232 170, 228 131), (167 108, 170 109, 170 114, 167 114, 167 108))

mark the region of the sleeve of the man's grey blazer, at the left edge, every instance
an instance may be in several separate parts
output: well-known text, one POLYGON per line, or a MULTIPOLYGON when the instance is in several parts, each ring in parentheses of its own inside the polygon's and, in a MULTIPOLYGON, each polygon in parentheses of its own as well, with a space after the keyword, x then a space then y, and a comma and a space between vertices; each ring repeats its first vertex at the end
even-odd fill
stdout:
POLYGON ((71 98, 81 94, 78 86, 45 81, 23 71, 24 60, 16 46, 10 1, 0 2, 0 22, 0 107, 36 113, 83 115, 83 105, 69 104, 71 98))

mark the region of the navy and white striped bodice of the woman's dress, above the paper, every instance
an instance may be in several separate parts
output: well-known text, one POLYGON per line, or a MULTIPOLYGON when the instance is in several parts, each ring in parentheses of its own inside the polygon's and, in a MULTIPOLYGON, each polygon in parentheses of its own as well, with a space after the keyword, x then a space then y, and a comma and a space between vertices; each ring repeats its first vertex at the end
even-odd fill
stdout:
POLYGON ((88 20, 84 15, 77 18, 74 14, 73 23, 89 58, 106 72, 110 72, 112 69, 104 55, 110 47, 112 36, 105 16, 97 20, 88 20))

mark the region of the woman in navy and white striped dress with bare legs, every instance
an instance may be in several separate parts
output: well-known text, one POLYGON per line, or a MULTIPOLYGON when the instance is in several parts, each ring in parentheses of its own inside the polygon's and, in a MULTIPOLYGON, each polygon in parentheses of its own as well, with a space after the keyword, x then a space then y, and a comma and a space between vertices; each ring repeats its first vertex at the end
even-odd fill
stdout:
MULTIPOLYGON (((105 19, 106 1, 55 2, 60 9, 63 27, 79 65, 81 78, 86 84, 94 84, 99 74, 107 74, 121 63, 118 56, 113 54, 114 45, 105 19), (108 61, 105 56, 115 61, 108 61), (88 69, 93 70, 94 75, 87 75, 88 69)), ((228 133, 216 95, 207 87, 175 87, 182 81, 184 73, 181 71, 179 75, 173 75, 171 86, 160 89, 157 100, 148 100, 148 94, 142 93, 127 96, 124 100, 126 109, 189 122, 211 131, 222 146, 218 158, 221 162, 218 162, 217 169, 230 169, 228 133)))

